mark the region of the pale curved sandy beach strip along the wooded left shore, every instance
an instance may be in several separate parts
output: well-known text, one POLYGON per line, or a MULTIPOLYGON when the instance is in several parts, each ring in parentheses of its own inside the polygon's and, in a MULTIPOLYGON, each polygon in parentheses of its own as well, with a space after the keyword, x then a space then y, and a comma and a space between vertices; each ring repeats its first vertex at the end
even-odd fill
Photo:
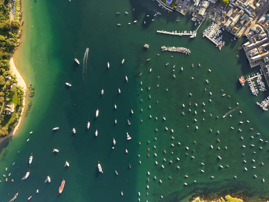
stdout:
POLYGON ((18 69, 16 68, 15 64, 14 64, 14 60, 13 60, 13 57, 10 59, 10 71, 12 74, 15 74, 16 75, 16 80, 17 80, 17 84, 19 86, 21 86, 23 88, 23 91, 24 91, 24 95, 23 95, 23 106, 22 106, 22 113, 21 113, 21 117, 19 118, 19 121, 17 122, 14 130, 10 131, 9 134, 5 137, 1 137, 0 138, 0 144, 8 139, 9 137, 13 136, 16 131, 19 129, 19 126, 21 124, 21 121, 22 121, 22 117, 23 117, 23 113, 24 113, 24 110, 25 110, 25 103, 26 103, 26 93, 27 93, 27 85, 23 79, 23 77, 21 76, 20 72, 18 71, 18 69))

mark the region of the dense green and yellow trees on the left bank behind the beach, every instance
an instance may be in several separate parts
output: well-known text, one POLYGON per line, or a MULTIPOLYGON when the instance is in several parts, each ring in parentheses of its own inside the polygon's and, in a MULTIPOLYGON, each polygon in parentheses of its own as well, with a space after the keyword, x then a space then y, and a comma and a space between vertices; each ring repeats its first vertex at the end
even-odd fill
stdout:
POLYGON ((0 137, 13 130, 21 116, 23 89, 17 85, 16 76, 10 72, 10 58, 18 39, 19 0, 12 5, 15 20, 10 19, 9 0, 0 0, 0 137), (13 104, 14 112, 7 114, 7 105, 13 104))

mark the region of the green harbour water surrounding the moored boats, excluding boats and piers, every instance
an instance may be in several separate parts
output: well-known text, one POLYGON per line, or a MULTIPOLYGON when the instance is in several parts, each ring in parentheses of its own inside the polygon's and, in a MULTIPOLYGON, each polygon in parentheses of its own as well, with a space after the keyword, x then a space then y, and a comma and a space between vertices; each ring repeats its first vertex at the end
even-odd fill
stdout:
POLYGON ((231 41, 231 35, 223 33, 226 46, 220 52, 202 38, 202 31, 210 25, 209 20, 202 24, 194 39, 157 34, 156 30, 196 28, 188 15, 183 18, 178 13, 167 13, 157 5, 140 0, 23 2, 23 38, 15 54, 15 63, 26 82, 35 87, 35 95, 27 98, 28 103, 32 102, 32 108, 19 131, 0 145, 1 176, 12 173, 8 182, 0 177, 1 201, 9 201, 19 190, 16 201, 26 201, 30 195, 32 201, 138 201, 138 192, 141 201, 187 201, 197 193, 243 193, 251 200, 268 196, 268 145, 265 143, 268 114, 255 105, 266 93, 254 97, 247 86, 241 87, 238 82, 237 76, 258 71, 249 69, 244 53, 238 50, 244 39, 231 41), (125 15, 125 11, 129 15, 125 15), (116 12, 121 14, 117 16, 116 12), (157 15, 152 22, 156 12, 162 15, 157 15), (128 25, 134 20, 137 20, 136 24, 128 25), (118 27, 118 23, 122 26, 118 27), (143 48, 145 43, 150 46, 147 50, 143 48), (160 50, 162 45, 184 46, 192 53, 189 56, 164 53, 160 50), (87 71, 84 69, 83 75, 82 63, 87 47, 87 71), (74 63, 75 57, 80 66, 74 63), (122 65, 123 58, 125 63, 122 65), (147 62, 147 58, 151 60, 147 62), (106 68, 107 62, 110 62, 110 69, 106 68), (149 69, 152 69, 150 73, 149 69), (210 73, 208 69, 211 69, 210 73), (65 82, 71 83, 72 87, 67 88, 65 82), (103 96, 101 89, 104 89, 103 96), (224 93, 226 96, 222 96, 224 93), (231 113, 232 117, 223 119, 230 110, 228 107, 236 110, 231 113), (99 117, 95 119, 97 108, 99 117), (134 114, 130 113, 131 109, 134 114), (132 123, 130 126, 127 119, 132 123), (87 121, 91 122, 89 130, 85 127, 87 121), (244 123, 240 124, 240 121, 244 123), (52 132, 56 126, 60 130, 52 132), (73 127, 77 131, 75 135, 71 133, 73 127), (97 137, 94 136, 96 129, 97 137), (30 131, 33 131, 31 135, 30 131), (132 137, 130 141, 126 140, 126 131, 132 137), (113 137, 117 141, 114 150, 113 137), (28 138, 30 140, 26 142, 28 138), (52 154, 53 148, 58 148, 59 154, 52 154), (31 153, 33 163, 29 167, 31 153), (67 169, 64 168, 66 160, 70 163, 67 169), (103 174, 98 173, 98 161, 103 174), (12 166, 13 162, 16 162, 15 166, 12 166), (205 165, 201 166, 201 162, 205 165), (220 169, 220 165, 224 168, 220 169), (5 171, 6 167, 8 171, 5 171), (248 171, 244 171, 244 167, 248 171), (28 170, 29 178, 22 181, 28 170), (44 183, 47 175, 51 177, 49 184, 44 183), (63 178, 66 185, 63 193, 58 195, 63 178), (184 182, 188 185, 184 186, 184 182), (37 188, 38 194, 35 193, 37 188), (121 190, 124 196, 121 196, 121 190))

